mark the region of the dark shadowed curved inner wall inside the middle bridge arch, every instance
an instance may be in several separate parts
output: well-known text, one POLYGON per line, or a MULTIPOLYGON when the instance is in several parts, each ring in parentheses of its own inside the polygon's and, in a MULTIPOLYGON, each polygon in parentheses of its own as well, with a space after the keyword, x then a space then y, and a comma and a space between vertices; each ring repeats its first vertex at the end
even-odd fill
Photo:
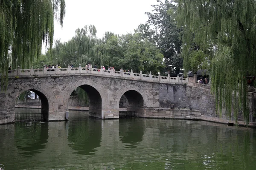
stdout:
POLYGON ((90 85, 81 85, 79 87, 87 93, 89 98, 89 116, 102 119, 102 96, 99 91, 90 85))

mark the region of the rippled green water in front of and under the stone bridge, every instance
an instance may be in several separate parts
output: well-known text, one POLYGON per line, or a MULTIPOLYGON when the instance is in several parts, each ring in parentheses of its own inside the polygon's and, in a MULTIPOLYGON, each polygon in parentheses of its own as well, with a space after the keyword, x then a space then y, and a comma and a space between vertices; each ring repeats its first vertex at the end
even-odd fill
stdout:
POLYGON ((0 126, 5 170, 255 170, 256 129, 171 119, 88 118, 0 126))

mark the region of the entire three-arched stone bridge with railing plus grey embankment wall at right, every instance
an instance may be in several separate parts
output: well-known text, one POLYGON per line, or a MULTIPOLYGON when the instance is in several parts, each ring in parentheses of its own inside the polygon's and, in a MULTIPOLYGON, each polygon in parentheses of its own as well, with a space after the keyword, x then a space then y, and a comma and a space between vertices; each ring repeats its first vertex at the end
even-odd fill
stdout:
MULTIPOLYGON (((89 115, 100 119, 118 119, 122 108, 139 117, 218 119, 209 86, 195 87, 189 81, 194 79, 80 65, 79 68, 9 70, 7 89, 0 91, 0 124, 14 122, 16 99, 27 90, 40 97, 41 113, 47 121, 65 120, 70 94, 77 87, 87 92, 89 115)), ((223 119, 227 122, 229 118, 223 119)))

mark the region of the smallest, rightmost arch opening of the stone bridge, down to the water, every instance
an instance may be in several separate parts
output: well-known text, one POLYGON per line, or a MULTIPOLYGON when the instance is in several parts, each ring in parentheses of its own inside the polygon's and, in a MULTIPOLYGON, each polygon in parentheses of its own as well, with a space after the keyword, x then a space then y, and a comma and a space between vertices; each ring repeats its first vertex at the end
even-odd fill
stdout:
POLYGON ((139 92, 134 90, 126 91, 119 101, 119 118, 142 116, 143 113, 143 96, 139 92))

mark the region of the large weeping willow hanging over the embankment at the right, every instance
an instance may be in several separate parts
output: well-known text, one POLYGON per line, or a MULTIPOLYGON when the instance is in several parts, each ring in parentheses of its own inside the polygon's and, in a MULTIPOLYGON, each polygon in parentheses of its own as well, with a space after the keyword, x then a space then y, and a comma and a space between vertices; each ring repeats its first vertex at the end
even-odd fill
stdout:
POLYGON ((247 101, 248 75, 256 75, 256 0, 176 0, 177 22, 183 27, 184 67, 196 42, 201 49, 215 49, 210 64, 211 90, 216 110, 238 117, 239 111, 249 122, 247 101))

